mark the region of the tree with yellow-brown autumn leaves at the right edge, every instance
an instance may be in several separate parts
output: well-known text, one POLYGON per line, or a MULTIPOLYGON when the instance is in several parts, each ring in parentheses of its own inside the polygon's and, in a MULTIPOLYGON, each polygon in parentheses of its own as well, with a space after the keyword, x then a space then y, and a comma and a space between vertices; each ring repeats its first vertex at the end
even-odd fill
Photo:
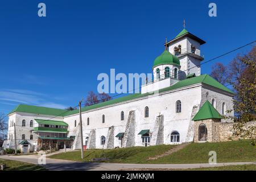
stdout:
POLYGON ((256 47, 247 55, 238 57, 243 71, 230 84, 236 91, 234 98, 234 121, 235 135, 242 138, 250 138, 251 144, 256 144, 256 126, 245 127, 245 123, 253 121, 256 117, 256 47))

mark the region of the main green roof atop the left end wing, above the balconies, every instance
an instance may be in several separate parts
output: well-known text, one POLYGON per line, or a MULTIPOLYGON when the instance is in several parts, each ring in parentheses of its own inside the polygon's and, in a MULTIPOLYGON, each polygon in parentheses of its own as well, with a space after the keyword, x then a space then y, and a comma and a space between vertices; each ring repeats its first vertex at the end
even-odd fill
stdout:
POLYGON ((23 113, 61 116, 61 114, 63 114, 65 111, 68 111, 68 110, 20 104, 17 107, 15 107, 15 109, 10 111, 9 114, 14 112, 23 112, 23 113))

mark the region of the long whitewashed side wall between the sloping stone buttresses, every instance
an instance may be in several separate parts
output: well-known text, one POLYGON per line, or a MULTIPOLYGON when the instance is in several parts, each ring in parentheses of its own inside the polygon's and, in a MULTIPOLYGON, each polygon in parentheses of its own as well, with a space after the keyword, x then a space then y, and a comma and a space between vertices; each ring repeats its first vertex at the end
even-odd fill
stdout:
MULTIPOLYGON (((141 130, 150 130, 152 136, 154 136, 155 119, 159 115, 163 115, 163 143, 171 143, 171 133, 177 131, 180 134, 180 142, 191 142, 192 137, 187 137, 188 128, 191 123, 191 115, 194 106, 200 105, 201 102, 201 86, 195 85, 188 88, 171 90, 165 94, 148 96, 145 98, 139 98, 135 101, 127 101, 122 104, 116 104, 113 106, 106 106, 100 109, 90 110, 82 113, 83 133, 84 137, 89 136, 91 130, 95 130, 95 147, 105 148, 101 146, 101 136, 107 137, 109 127, 114 126, 114 136, 118 133, 125 133, 127 127, 127 121, 129 115, 134 115, 133 134, 134 138, 129 139, 130 143, 125 142, 123 139, 123 146, 143 146, 141 135, 138 133, 141 130), (181 113, 176 113, 176 101, 181 101, 181 113), (149 117, 144 117, 144 108, 148 106, 149 117), (121 111, 125 113, 125 119, 121 121, 121 111), (130 113, 130 114, 129 114, 130 113), (133 114, 132 114, 133 113, 133 114), (102 114, 105 115, 105 123, 102 123, 102 114), (89 117, 90 124, 86 125, 87 118, 89 117)), ((72 133, 75 127, 73 123, 77 115, 72 115, 64 118, 64 122, 69 125, 69 133, 72 133)), ((130 124, 129 124, 130 125, 130 124)), ((191 127, 191 126, 190 126, 191 127)), ((193 131, 190 131, 193 136, 193 131)), ((90 137, 89 137, 90 138, 90 137)), ((85 142, 84 142, 85 144, 85 142)), ((114 147, 121 147, 121 140, 114 137, 114 147)))

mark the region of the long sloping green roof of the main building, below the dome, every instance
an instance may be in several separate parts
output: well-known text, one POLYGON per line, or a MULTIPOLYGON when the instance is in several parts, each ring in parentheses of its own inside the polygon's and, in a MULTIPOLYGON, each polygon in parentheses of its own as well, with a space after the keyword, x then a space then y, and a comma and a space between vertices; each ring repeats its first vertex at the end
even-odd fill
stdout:
MULTIPOLYGON (((182 88, 184 86, 199 84, 200 82, 202 82, 202 83, 204 83, 206 85, 213 86, 214 88, 218 88, 218 89, 224 90, 226 92, 229 92, 231 94, 234 94, 234 92, 232 92, 231 90, 226 88, 224 85, 220 84, 220 82, 218 82, 217 80, 215 80, 214 78, 212 78, 212 77, 210 77, 209 75, 206 75, 206 74, 178 81, 178 82, 176 82, 176 84, 174 84, 172 86, 160 89, 159 93, 166 92, 168 90, 179 89, 179 88, 182 88)), ((119 97, 119 98, 115 98, 113 100, 101 102, 99 104, 94 104, 94 105, 91 105, 91 106, 82 107, 81 111, 82 112, 89 111, 89 110, 92 110, 92 109, 97 109, 97 108, 104 107, 104 106, 109 106, 109 105, 112 105, 112 104, 118 104, 120 102, 135 100, 137 98, 146 97, 146 96, 150 96, 150 95, 153 95, 153 94, 154 93, 144 93, 144 94, 135 93, 135 94, 130 94, 130 95, 127 95, 125 97, 119 97)), ((68 116, 68 115, 72 115, 72 114, 77 114, 77 113, 79 113, 78 109, 71 110, 71 111, 68 111, 67 113, 65 113, 64 117, 68 116)))

